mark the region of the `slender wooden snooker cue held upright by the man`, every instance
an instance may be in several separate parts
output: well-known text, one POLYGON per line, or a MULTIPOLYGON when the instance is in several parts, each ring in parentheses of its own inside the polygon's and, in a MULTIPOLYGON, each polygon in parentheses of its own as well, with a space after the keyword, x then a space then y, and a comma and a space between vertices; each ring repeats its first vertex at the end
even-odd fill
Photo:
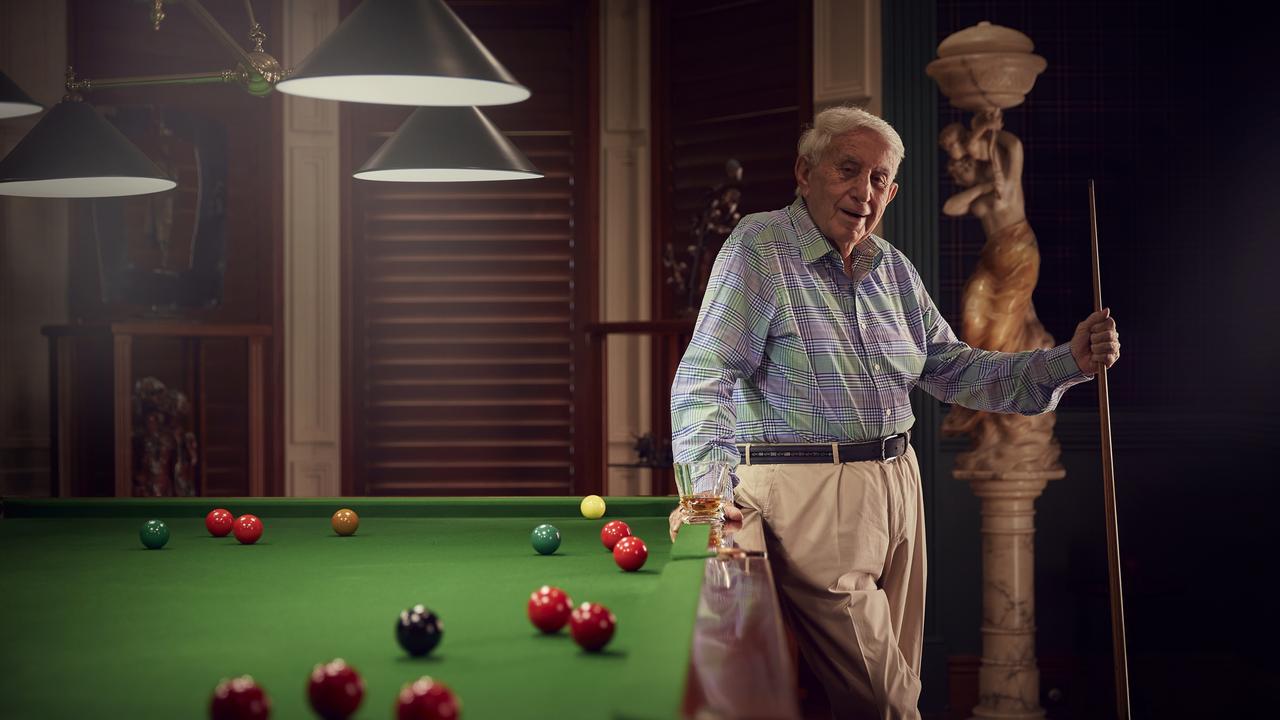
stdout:
MULTIPOLYGON (((1098 272, 1098 209, 1089 181, 1089 241, 1093 247, 1093 310, 1102 310, 1102 278, 1098 272)), ((1116 717, 1129 720, 1129 655, 1124 643, 1124 592, 1120 587, 1120 529, 1116 525, 1115 465, 1111 457, 1111 400, 1107 369, 1098 365, 1098 413, 1102 428, 1102 493, 1107 511, 1107 569, 1111 579, 1111 656, 1115 662, 1116 717)))

